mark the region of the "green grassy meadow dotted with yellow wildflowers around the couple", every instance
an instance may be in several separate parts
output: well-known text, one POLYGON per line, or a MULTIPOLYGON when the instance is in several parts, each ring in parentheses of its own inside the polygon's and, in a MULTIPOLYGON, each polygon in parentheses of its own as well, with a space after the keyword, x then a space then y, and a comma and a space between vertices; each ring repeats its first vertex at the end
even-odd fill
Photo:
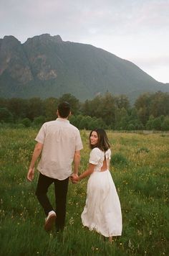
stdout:
MULTIPOLYGON (((123 219, 122 237, 113 244, 82 227, 87 179, 69 183, 62 236, 44 232, 44 212, 34 196, 38 173, 32 183, 26 181, 36 134, 36 129, 0 129, 0 255, 169 255, 169 134, 107 132, 123 219)), ((80 172, 90 153, 89 132, 81 134, 80 172)))

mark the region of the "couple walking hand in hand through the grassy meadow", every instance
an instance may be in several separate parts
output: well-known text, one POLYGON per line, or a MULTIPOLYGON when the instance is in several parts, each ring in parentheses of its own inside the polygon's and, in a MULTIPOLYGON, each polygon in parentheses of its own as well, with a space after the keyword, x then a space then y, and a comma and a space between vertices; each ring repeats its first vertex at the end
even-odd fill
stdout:
POLYGON ((78 183, 90 176, 87 182, 87 198, 81 214, 82 224, 90 230, 108 237, 122 234, 122 214, 119 197, 109 170, 110 143, 104 129, 93 129, 90 132, 90 159, 87 170, 78 176, 80 163, 80 150, 82 140, 77 127, 69 123, 71 114, 69 103, 59 104, 58 118, 46 122, 37 134, 37 144, 34 147, 32 161, 27 173, 27 179, 34 178, 34 165, 39 155, 41 160, 37 169, 39 180, 36 195, 47 216, 44 229, 49 231, 56 225, 57 231, 64 229, 66 214, 66 199, 69 176, 72 183, 78 183), (56 210, 54 211, 47 197, 49 186, 54 183, 56 210))

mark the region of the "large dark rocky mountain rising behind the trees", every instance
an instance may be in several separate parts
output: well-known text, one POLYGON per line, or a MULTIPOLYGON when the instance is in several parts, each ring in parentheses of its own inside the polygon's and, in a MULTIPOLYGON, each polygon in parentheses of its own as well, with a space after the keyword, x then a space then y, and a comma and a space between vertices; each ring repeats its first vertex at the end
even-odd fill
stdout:
POLYGON ((72 93, 92 99, 109 91, 135 99, 140 93, 169 91, 137 65, 110 52, 59 35, 39 35, 21 44, 13 36, 0 39, 0 97, 42 99, 72 93))

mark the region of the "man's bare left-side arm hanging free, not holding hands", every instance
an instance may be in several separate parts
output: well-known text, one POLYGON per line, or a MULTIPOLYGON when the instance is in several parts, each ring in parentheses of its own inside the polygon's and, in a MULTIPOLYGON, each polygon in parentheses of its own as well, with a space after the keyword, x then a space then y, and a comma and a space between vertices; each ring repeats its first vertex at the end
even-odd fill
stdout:
POLYGON ((32 155, 32 160, 31 160, 31 163, 29 165, 29 170, 28 170, 28 173, 27 173, 27 179, 29 181, 32 181, 34 179, 34 165, 35 165, 35 163, 37 161, 37 158, 39 157, 39 155, 42 152, 42 148, 43 148, 43 144, 40 143, 40 142, 37 142, 37 144, 34 147, 34 152, 33 152, 33 155, 32 155))

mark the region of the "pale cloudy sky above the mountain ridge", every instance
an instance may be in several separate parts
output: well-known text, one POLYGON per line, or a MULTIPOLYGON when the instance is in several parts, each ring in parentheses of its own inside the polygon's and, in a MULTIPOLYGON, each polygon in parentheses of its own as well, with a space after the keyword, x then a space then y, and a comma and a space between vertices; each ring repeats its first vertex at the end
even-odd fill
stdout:
POLYGON ((0 0, 0 38, 60 35, 169 83, 169 0, 0 0))

